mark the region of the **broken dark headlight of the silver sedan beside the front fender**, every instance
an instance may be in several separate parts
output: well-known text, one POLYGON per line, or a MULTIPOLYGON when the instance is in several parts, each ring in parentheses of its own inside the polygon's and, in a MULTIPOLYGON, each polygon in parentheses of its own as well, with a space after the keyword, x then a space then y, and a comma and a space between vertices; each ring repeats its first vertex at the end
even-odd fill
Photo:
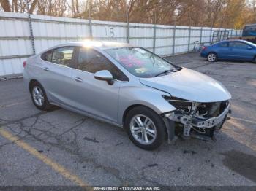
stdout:
POLYGON ((188 100, 176 98, 176 97, 170 97, 166 95, 164 95, 163 98, 165 98, 166 101, 168 101, 172 106, 176 107, 176 109, 180 110, 181 112, 184 112, 184 113, 191 112, 192 101, 188 101, 188 100))

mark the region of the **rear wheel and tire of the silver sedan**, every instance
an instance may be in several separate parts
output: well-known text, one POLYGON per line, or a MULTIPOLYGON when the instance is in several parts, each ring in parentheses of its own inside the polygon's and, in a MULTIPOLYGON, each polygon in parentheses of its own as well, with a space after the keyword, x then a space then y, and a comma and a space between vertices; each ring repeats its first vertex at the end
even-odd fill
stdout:
POLYGON ((48 102, 45 90, 39 82, 32 82, 29 90, 34 106, 37 109, 47 111, 52 108, 52 105, 48 102))

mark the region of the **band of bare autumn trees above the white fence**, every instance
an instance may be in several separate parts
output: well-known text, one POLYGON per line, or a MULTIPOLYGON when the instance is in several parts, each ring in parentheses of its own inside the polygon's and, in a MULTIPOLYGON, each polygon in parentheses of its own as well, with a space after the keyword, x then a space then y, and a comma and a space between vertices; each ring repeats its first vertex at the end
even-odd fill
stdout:
POLYGON ((256 23, 256 0, 0 0, 0 9, 181 26, 241 28, 246 23, 256 23))

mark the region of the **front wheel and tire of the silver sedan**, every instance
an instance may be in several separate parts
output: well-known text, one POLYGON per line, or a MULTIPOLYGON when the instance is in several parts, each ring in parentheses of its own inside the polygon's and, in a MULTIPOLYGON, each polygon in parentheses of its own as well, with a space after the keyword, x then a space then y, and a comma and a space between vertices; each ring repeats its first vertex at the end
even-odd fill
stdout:
POLYGON ((165 122, 159 114, 145 106, 130 110, 124 127, 132 143, 141 149, 157 149, 167 137, 165 122))

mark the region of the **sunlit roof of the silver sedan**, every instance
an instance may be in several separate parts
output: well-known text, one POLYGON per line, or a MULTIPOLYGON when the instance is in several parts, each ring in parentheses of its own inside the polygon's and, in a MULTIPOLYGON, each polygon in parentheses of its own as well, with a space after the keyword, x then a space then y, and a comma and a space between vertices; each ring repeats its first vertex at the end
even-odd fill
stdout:
POLYGON ((63 46, 83 46, 83 47, 94 47, 101 50, 113 49, 118 47, 138 47, 132 44, 127 44, 123 42, 107 42, 107 41, 94 41, 94 40, 84 40, 80 42, 69 42, 65 44, 59 44, 58 47, 63 46))

